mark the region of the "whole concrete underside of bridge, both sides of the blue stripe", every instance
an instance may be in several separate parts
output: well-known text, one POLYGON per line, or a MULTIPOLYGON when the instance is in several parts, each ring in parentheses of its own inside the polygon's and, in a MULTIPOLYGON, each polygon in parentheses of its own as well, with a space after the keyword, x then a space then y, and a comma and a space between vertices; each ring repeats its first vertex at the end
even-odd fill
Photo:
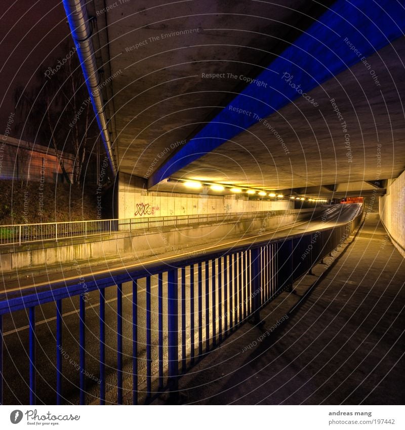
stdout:
MULTIPOLYGON (((116 3, 108 12, 100 0, 88 8, 108 41, 108 58, 99 61, 114 77, 109 104, 118 170, 139 177, 246 85, 228 73, 255 77, 325 11, 308 0, 116 3)), ((404 58, 401 37, 368 58, 379 86, 359 62, 309 93, 316 108, 303 98, 289 103, 266 119, 272 131, 257 123, 173 177, 301 191, 396 177, 405 168, 404 58), (331 98, 347 123, 351 163, 331 98)), ((184 192, 167 181, 153 189, 184 192)))

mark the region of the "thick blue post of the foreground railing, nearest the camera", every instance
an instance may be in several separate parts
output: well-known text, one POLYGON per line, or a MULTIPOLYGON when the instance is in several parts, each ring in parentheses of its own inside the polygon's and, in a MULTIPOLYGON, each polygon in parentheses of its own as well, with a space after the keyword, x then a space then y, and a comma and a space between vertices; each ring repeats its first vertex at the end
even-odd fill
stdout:
POLYGON ((172 400, 178 398, 179 345, 178 345, 178 285, 177 269, 168 272, 168 353, 169 392, 172 400))

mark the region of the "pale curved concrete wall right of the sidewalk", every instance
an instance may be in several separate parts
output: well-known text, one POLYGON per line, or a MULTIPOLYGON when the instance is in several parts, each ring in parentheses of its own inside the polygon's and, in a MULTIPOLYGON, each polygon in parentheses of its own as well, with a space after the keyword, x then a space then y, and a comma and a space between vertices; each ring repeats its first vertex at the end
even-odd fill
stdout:
POLYGON ((405 257, 405 171, 389 179, 387 193, 380 197, 380 218, 392 243, 405 257))

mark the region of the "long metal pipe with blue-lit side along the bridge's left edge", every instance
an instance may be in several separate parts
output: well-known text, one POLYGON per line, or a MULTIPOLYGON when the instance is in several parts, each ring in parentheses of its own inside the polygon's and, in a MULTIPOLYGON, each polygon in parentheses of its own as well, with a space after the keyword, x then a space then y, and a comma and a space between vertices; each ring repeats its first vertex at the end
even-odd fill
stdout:
POLYGON ((101 138, 108 154, 112 173, 115 176, 117 173, 115 157, 104 113, 100 79, 94 55, 93 42, 91 39, 91 29, 86 3, 82 0, 63 0, 63 6, 65 7, 70 31, 77 48, 77 55, 79 57, 80 64, 82 65, 86 86, 90 94, 93 110, 96 114, 98 127, 101 132, 101 138))

